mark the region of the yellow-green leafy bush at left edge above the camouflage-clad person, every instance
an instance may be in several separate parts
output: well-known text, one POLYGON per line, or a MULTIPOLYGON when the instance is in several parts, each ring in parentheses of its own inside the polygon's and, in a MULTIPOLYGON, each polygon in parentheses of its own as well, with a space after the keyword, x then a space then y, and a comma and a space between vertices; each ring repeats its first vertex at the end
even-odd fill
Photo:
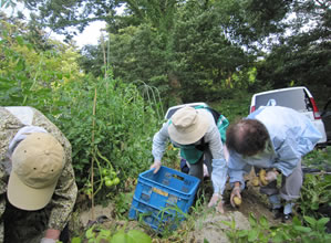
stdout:
MULTIPOLYGON (((42 112, 56 110, 66 83, 80 80, 74 47, 48 40, 42 46, 30 41, 29 29, 19 20, 0 21, 0 101, 4 105, 31 105, 42 112), (11 23, 12 22, 12 23, 11 23)), ((40 32, 42 33, 42 32, 40 32)), ((42 39, 43 40, 43 39, 42 39)), ((39 40, 35 41, 40 43, 39 40)))

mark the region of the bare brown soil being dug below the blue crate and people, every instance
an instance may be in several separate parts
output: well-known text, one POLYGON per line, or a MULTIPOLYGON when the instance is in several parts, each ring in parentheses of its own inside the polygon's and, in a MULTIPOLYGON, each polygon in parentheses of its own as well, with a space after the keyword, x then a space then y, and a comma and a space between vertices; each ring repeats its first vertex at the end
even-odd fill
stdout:
MULTIPOLYGON (((102 224, 105 229, 139 229, 149 234, 154 240, 153 242, 196 242, 203 243, 205 240, 208 242, 217 242, 217 243, 226 243, 229 242, 226 236, 226 232, 229 231, 229 226, 224 224, 223 221, 232 222, 235 221, 236 229, 248 230, 250 229, 250 224, 248 221, 249 214, 254 213, 254 215, 259 219, 261 215, 265 215, 269 223, 277 224, 280 223, 278 220, 273 220, 272 213, 269 211, 267 197, 259 193, 259 187, 252 187, 250 184, 251 175, 246 178, 247 179, 247 189, 242 191, 242 203, 239 208, 234 209, 229 203, 229 194, 230 188, 227 188, 225 192, 225 213, 217 213, 215 210, 207 209, 206 212, 199 213, 200 216, 195 219, 194 226, 183 228, 183 237, 178 239, 178 235, 175 239, 162 239, 156 234, 151 235, 151 231, 145 228, 141 228, 142 225, 137 221, 118 221, 114 219, 114 205, 110 203, 107 207, 103 208, 102 205, 96 205, 94 208, 94 219, 96 221, 91 221, 92 212, 91 209, 86 209, 80 213, 76 213, 75 223, 73 225, 73 231, 83 231, 87 229, 93 223, 102 224), (186 232, 185 232, 186 231, 186 232)), ((207 186, 208 187, 208 186, 207 186)), ((210 188, 209 188, 210 190, 210 188)), ((205 191, 206 197, 208 198, 208 189, 205 191)), ((206 203, 205 203, 206 204, 206 203)), ((180 232, 180 230, 179 230, 180 232)))

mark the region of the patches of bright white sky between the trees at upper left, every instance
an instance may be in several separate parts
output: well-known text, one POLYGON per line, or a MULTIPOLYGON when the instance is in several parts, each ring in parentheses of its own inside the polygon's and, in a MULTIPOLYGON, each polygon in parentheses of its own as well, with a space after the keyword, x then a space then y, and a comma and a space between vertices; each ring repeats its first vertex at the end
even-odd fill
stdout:
MULTIPOLYGON (((18 3, 14 9, 12 8, 6 8, 1 9, 3 12, 6 12, 8 15, 14 14, 15 11, 21 10, 27 17, 29 15, 29 12, 24 9, 24 6, 22 3, 18 3)), ((76 42, 79 47, 82 47, 85 44, 97 44, 99 38, 101 36, 101 29, 105 28, 105 22, 102 21, 95 21, 92 22, 89 27, 85 28, 83 33, 77 34, 73 38, 73 40, 76 42)), ((63 41, 64 36, 55 34, 51 30, 48 30, 51 34, 50 36, 52 39, 63 41)))

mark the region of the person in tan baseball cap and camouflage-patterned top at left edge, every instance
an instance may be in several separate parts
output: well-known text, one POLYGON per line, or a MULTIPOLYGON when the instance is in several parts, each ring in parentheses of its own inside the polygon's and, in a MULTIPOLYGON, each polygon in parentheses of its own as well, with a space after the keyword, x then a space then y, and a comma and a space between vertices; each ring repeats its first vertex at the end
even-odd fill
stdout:
POLYGON ((0 107, 0 242, 56 242, 77 193, 69 140, 32 107, 0 107))

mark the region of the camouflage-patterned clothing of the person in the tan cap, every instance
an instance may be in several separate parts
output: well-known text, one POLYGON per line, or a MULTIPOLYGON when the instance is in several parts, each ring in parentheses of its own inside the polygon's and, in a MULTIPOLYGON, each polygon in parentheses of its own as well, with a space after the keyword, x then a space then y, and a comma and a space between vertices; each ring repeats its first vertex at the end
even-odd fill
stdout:
POLYGON ((0 243, 38 243, 46 229, 62 231, 73 211, 77 188, 71 165, 71 145, 59 128, 39 110, 32 107, 10 108, 12 109, 0 107, 0 243), (52 134, 65 151, 65 166, 52 200, 44 209, 38 211, 24 211, 12 207, 6 193, 9 173, 4 165, 9 160, 9 144, 21 128, 29 125, 42 127, 52 134))

